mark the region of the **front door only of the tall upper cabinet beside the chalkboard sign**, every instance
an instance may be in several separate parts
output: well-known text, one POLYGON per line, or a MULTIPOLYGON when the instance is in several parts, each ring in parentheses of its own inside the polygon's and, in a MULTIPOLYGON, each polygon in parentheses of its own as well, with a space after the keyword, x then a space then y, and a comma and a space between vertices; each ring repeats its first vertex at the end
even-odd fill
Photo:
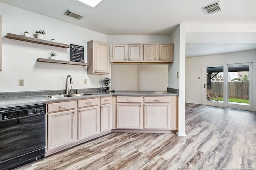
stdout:
POLYGON ((109 74, 109 44, 94 41, 94 73, 109 74))

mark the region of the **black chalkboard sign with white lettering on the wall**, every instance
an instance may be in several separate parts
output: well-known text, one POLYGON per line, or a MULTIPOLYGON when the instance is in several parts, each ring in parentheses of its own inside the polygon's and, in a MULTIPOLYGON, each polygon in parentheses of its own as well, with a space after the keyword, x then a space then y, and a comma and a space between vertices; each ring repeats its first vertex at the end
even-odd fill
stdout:
POLYGON ((84 63, 84 47, 70 44, 70 61, 84 63))

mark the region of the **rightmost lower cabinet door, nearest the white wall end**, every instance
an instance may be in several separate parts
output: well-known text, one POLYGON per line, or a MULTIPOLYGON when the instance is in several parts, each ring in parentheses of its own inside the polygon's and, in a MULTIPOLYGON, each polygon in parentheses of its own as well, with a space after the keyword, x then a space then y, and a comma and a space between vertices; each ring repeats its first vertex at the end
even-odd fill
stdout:
POLYGON ((170 129, 170 104, 145 104, 145 129, 170 129))

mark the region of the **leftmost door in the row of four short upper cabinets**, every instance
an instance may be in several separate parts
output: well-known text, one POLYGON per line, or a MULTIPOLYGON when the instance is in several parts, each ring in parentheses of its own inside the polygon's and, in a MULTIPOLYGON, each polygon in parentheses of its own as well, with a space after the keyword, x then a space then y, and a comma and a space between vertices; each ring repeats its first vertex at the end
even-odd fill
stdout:
POLYGON ((126 45, 113 45, 113 61, 127 61, 126 45))

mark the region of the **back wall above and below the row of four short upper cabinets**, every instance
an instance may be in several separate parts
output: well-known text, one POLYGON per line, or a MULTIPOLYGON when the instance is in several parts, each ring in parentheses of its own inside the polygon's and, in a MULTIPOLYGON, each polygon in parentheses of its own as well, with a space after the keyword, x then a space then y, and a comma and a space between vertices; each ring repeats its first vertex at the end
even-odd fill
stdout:
MULTIPOLYGON (((118 43, 170 43, 169 35, 108 35, 107 42, 118 43)), ((113 90, 167 90, 168 65, 112 64, 113 90)))

